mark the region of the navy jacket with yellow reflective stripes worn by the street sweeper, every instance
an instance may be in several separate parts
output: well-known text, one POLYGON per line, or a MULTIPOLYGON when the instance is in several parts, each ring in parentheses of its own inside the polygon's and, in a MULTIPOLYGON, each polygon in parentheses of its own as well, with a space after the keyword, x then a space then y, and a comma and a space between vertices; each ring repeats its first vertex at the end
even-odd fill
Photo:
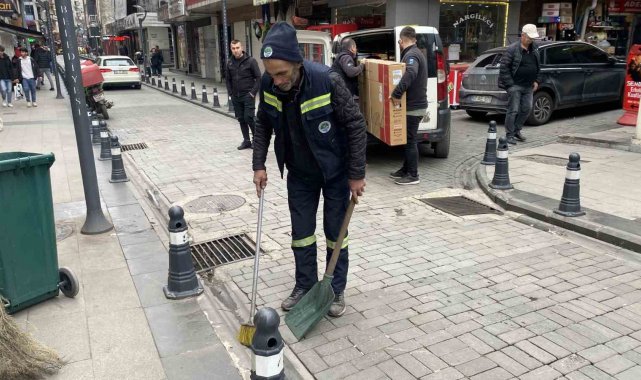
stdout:
MULTIPOLYGON (((365 178, 367 133, 365 119, 352 94, 337 73, 329 67, 304 61, 304 86, 296 101, 309 148, 325 181, 340 175, 349 179, 365 178)), ((285 169, 286 149, 283 136, 283 104, 275 95, 274 82, 265 73, 261 80, 260 103, 253 143, 253 170, 265 170, 267 150, 275 134, 274 151, 281 176, 285 169)))

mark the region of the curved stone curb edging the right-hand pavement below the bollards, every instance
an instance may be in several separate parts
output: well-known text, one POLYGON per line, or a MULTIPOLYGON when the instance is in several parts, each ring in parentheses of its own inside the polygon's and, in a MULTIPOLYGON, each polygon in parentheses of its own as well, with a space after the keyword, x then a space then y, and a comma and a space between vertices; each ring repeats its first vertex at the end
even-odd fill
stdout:
MULTIPOLYGON (((586 217, 568 218, 555 214, 552 210, 536 206, 510 196, 510 190, 497 191, 489 186, 484 165, 476 169, 476 180, 483 192, 505 210, 515 211, 545 223, 565 228, 591 238, 641 253, 641 236, 588 220, 586 217)), ((584 209, 590 214, 590 209, 584 209)), ((596 211, 592 211, 595 213, 596 211)), ((517 218, 518 221, 518 218, 517 218)))

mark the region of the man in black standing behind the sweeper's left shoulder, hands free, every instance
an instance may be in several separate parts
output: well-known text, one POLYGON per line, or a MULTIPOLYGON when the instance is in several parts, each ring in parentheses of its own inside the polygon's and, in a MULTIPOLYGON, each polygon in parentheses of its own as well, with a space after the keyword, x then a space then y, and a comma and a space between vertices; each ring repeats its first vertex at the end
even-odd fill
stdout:
POLYGON ((260 85, 260 69, 258 62, 243 51, 243 45, 238 40, 230 44, 231 57, 227 62, 225 79, 227 93, 234 105, 234 114, 240 123, 243 142, 238 150, 252 147, 249 131, 254 135, 254 113, 256 111, 256 94, 260 85))

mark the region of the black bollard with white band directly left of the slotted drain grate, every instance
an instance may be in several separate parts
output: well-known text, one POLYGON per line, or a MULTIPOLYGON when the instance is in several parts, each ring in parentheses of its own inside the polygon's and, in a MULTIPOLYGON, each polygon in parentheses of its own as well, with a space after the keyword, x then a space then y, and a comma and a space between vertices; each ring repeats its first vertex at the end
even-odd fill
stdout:
POLYGON ((191 261, 184 216, 180 206, 169 209, 169 275, 167 286, 162 289, 169 299, 197 296, 203 292, 191 261))

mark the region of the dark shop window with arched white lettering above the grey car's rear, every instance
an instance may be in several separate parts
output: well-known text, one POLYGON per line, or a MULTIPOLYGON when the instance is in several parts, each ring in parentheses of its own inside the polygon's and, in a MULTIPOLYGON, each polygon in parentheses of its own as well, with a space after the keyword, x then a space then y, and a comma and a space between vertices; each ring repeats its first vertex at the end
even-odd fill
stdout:
POLYGON ((504 46, 507 7, 506 2, 442 0, 439 34, 448 60, 472 62, 483 52, 504 46))

